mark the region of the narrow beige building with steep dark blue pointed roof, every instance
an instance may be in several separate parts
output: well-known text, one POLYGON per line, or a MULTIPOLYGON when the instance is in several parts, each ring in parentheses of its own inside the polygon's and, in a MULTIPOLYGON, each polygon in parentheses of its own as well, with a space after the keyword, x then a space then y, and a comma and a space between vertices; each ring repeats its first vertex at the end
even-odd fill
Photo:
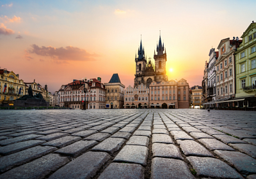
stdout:
POLYGON ((106 89, 106 109, 124 108, 124 89, 117 73, 113 74, 108 83, 105 83, 106 89))

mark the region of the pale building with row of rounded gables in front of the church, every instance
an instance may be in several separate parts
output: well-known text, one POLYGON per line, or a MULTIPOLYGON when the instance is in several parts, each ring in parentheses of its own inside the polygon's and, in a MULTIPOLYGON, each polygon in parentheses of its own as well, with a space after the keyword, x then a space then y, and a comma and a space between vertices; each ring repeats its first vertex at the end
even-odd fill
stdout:
POLYGON ((131 85, 124 90, 124 108, 148 108, 149 88, 143 84, 132 88, 131 85))

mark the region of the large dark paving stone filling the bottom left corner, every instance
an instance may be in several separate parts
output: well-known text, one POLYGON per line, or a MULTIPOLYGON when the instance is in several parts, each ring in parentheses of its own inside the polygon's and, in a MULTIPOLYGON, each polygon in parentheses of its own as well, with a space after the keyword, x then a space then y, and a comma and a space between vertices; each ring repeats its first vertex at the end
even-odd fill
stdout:
POLYGON ((28 164, 7 171, 0 175, 0 178, 44 178, 52 171, 67 164, 67 162, 69 162, 67 157, 60 157, 58 154, 48 154, 28 164))

